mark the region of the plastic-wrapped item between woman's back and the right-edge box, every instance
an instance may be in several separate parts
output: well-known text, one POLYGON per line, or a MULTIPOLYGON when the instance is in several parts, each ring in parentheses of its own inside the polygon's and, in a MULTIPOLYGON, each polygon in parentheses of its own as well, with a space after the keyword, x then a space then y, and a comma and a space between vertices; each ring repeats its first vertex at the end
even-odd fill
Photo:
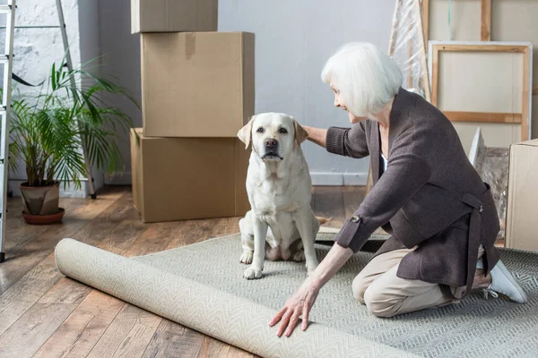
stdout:
POLYGON ((480 127, 474 134, 473 145, 469 152, 469 160, 481 176, 482 181, 489 183, 493 200, 499 213, 499 234, 497 240, 505 239, 507 220, 508 194, 508 148, 486 147, 480 127))

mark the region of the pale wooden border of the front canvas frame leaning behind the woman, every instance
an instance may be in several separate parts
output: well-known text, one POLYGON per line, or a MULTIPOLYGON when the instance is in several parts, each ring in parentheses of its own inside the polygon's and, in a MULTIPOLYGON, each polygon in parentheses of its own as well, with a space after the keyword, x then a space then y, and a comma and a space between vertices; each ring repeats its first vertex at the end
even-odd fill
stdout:
POLYGON ((504 41, 429 41, 428 68, 431 83, 431 104, 438 106, 438 58, 441 51, 522 53, 523 88, 521 113, 445 112, 453 122, 486 122, 521 124, 521 141, 531 139, 531 109, 533 99, 533 44, 504 41))

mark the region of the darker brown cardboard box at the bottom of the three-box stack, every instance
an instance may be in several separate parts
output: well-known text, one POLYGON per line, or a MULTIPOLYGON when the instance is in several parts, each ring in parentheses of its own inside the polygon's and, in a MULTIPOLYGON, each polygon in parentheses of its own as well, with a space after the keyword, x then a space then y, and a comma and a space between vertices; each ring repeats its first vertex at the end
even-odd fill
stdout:
POLYGON ((146 138, 132 129, 134 206, 143 222, 244 216, 249 155, 234 138, 146 138))

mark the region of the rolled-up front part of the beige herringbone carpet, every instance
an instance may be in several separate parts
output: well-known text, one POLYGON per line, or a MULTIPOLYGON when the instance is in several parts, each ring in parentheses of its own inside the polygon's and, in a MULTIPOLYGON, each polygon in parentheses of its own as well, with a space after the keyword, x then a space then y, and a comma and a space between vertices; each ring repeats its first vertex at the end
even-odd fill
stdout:
MULTIPOLYGON (((310 323, 304 332, 295 329, 291 337, 276 337, 276 327, 270 328, 267 324, 276 313, 273 308, 163 269, 173 265, 166 255, 160 264, 150 265, 139 258, 127 259, 73 239, 58 243, 55 255, 57 268, 66 277, 253 354, 265 357, 415 356, 320 323, 310 323)), ((158 255, 148 256, 155 261, 158 255)), ((200 270, 220 269, 200 265, 200 270)))

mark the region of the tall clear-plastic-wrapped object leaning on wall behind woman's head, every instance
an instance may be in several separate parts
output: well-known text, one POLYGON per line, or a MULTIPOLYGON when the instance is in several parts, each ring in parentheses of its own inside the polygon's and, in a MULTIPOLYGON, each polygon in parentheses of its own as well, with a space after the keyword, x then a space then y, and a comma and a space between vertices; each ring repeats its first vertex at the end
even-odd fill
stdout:
POLYGON ((404 74, 402 87, 430 101, 420 0, 396 0, 388 55, 404 74))

